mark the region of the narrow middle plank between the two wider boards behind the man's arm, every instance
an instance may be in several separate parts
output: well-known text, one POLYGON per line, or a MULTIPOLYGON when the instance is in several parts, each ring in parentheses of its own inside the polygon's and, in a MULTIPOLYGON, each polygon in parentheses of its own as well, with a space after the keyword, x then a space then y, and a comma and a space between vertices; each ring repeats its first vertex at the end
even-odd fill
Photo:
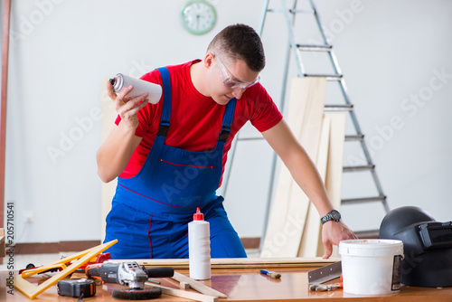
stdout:
MULTIPOLYGON (((328 163, 328 149, 330 143, 331 118, 328 115, 324 116, 322 123, 322 133, 320 136, 320 144, 315 160, 315 166, 318 173, 325 183, 326 165, 328 163)), ((309 211, 307 212, 305 230, 301 238, 298 257, 316 257, 319 235, 322 232, 320 215, 315 209, 314 204, 309 204, 309 211)))

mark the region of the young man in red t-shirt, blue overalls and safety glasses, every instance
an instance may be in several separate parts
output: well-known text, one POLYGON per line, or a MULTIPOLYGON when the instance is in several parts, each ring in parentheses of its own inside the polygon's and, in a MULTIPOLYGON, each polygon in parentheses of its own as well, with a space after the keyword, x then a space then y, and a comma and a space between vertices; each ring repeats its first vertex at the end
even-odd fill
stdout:
POLYGON ((287 165, 321 217, 325 258, 332 244, 355 238, 333 209, 315 165, 267 91, 259 84, 265 55, 259 35, 244 24, 226 27, 202 60, 151 71, 141 79, 163 86, 151 105, 131 87, 108 94, 116 127, 99 148, 104 182, 118 177, 105 241, 113 259, 187 258, 187 223, 200 208, 211 225, 212 258, 246 257, 216 195, 233 137, 248 120, 287 165))

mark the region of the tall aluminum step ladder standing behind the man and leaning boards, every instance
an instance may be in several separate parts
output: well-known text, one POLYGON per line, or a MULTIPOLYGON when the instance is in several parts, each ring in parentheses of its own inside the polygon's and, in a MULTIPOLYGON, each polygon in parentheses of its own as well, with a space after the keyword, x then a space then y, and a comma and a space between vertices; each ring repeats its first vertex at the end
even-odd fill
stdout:
MULTIPOLYGON (((264 4, 262 7, 261 17, 260 17, 260 23, 258 28, 258 33, 260 36, 262 36, 264 24, 266 22, 266 17, 268 13, 276 13, 276 14, 284 14, 284 19, 287 24, 287 31, 288 31, 288 42, 287 42, 287 52, 286 52, 286 61, 285 61, 285 70, 283 74, 283 82, 282 82, 282 90, 281 90, 281 101, 279 110, 283 112, 284 110, 284 103, 286 101, 286 88, 287 88, 287 74, 289 69, 289 62, 292 56, 295 58, 296 66, 297 66, 297 76, 298 77, 325 77, 327 81, 335 81, 339 85, 341 99, 343 99, 342 103, 339 104, 325 104, 325 111, 343 111, 348 112, 349 117, 353 124, 353 134, 347 134, 345 136, 345 142, 357 142, 359 143, 359 146, 361 147, 361 151, 363 152, 363 159, 365 161, 364 165, 344 165, 343 173, 350 174, 350 173, 356 173, 356 172, 369 172, 372 175, 372 182, 375 186, 375 191, 377 192, 375 195, 371 194, 370 196, 364 196, 359 198, 344 198, 341 200, 341 204, 361 204, 361 203, 381 203, 383 206, 383 209, 385 212, 390 211, 390 207, 387 202, 387 197, 383 193, 381 183, 379 180, 379 177, 375 170, 375 165, 372 162, 372 157, 369 152, 369 148, 366 145, 366 142, 364 140, 364 135, 361 130, 361 127, 359 126, 358 119, 356 118, 356 114, 353 110, 353 104, 350 101, 347 88, 345 85, 345 80, 343 73, 341 69, 339 68, 339 64, 337 62, 336 56, 334 54, 334 47, 333 45, 328 41, 327 36, 325 34, 325 29, 323 24, 320 21, 319 14, 315 8, 314 0, 308 0, 309 8, 308 9, 297 9, 297 0, 292 0, 291 7, 287 7, 287 0, 281 0, 280 1, 280 7, 279 8, 269 8, 269 0, 264 0, 264 4), (321 36, 321 42, 318 44, 309 44, 309 43, 297 43, 296 42, 296 35, 294 30, 294 24, 296 21, 297 14, 311 14, 314 16, 316 27, 318 28, 318 32, 321 36), (301 53, 302 52, 323 52, 326 53, 329 61, 331 63, 331 67, 333 72, 331 73, 308 73, 306 72, 306 68, 304 66, 304 62, 302 60, 301 53)), ((290 1, 288 1, 290 2, 290 1)), ((263 139, 263 137, 259 137, 263 139)), ((237 148, 237 145, 242 140, 250 140, 250 139, 259 139, 259 138, 241 138, 240 133, 238 134, 235 143, 231 146, 231 159, 230 164, 227 166, 227 171, 225 173, 225 184, 224 184, 224 192, 227 191, 228 183, 229 183, 229 175, 231 175, 231 167, 233 165, 233 158, 235 155, 235 151, 237 148)), ((274 184, 274 178, 275 178, 275 170, 276 170, 276 164, 277 164, 277 156, 274 154, 272 159, 272 167, 271 167, 271 176, 270 176, 270 184, 274 184)), ((265 235, 265 226, 267 225, 268 220, 268 211, 269 211, 269 205, 271 203, 272 198, 272 192, 273 191, 273 185, 269 186, 268 191, 268 203, 267 203, 267 210, 266 210, 266 217, 264 222, 264 233, 262 235, 262 238, 264 238, 265 235)), ((358 233, 358 232, 357 232, 358 233)), ((358 234, 362 234, 363 236, 374 236, 378 234, 378 230, 365 230, 360 231, 358 234)))

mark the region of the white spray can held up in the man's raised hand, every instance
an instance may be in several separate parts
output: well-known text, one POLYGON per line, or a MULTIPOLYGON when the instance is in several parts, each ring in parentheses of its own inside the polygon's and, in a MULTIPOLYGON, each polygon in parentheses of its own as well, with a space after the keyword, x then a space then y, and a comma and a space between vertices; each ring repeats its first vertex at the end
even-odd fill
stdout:
POLYGON ((129 77, 122 73, 118 73, 113 79, 110 79, 110 83, 113 85, 113 91, 116 93, 132 85, 134 89, 127 94, 127 97, 130 98, 137 98, 137 96, 147 92, 149 94, 147 99, 149 99, 149 103, 151 104, 156 104, 162 96, 162 87, 160 85, 147 80, 129 77))

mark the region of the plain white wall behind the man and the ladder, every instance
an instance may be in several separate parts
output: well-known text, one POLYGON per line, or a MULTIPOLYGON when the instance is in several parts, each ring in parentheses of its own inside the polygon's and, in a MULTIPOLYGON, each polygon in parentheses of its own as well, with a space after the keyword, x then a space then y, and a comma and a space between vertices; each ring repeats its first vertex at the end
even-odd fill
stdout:
MULTIPOLYGON (((100 80, 200 58, 228 24, 257 28, 261 1, 211 2, 218 23, 202 36, 180 24, 183 0, 13 2, 5 202, 14 202, 17 241, 100 239, 100 80), (33 214, 32 223, 24 222, 26 214, 33 214)), ((438 221, 450 220, 452 3, 322 0, 318 9, 334 35, 391 208, 416 204, 438 221), (431 80, 437 72, 446 75, 431 80), (410 95, 419 95, 418 104, 410 95), (394 117, 399 128, 390 130, 394 117)), ((287 31, 277 21, 268 19, 263 35, 262 83, 278 103, 287 31)), ((257 134, 246 127, 242 135, 257 134)), ((240 143, 237 152, 226 208, 240 236, 259 236, 271 150, 255 141, 240 143)), ((369 208, 373 220, 344 207, 353 230, 369 222, 378 227, 381 209, 369 208)))

